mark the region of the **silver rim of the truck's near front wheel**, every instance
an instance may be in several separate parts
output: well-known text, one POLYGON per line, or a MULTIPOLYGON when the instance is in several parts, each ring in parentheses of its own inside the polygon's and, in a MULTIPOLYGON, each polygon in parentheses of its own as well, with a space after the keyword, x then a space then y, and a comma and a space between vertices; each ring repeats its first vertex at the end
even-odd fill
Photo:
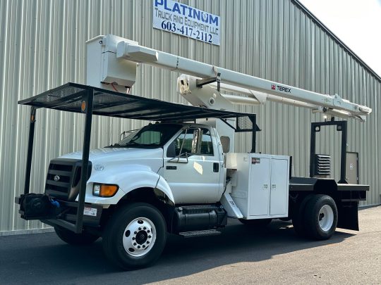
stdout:
POLYGON ((128 255, 135 257, 150 252, 156 241, 155 224, 147 217, 137 217, 123 232, 123 247, 128 255))

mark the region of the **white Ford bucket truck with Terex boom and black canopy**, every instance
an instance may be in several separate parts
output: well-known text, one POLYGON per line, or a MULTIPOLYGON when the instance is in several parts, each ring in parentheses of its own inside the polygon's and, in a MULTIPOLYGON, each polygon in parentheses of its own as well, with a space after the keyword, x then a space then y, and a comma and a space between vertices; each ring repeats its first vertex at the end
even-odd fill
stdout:
MULTIPOLYGON (((121 92, 133 79, 117 74, 115 65, 123 65, 119 72, 137 62, 171 69, 171 55, 112 35, 90 41, 87 53, 92 58, 88 72, 98 64, 102 71, 90 77, 91 86, 67 83, 19 102, 31 106, 25 189, 16 198, 23 219, 51 225, 71 244, 102 238, 107 258, 123 269, 155 262, 169 233, 185 238, 220 234, 228 217, 248 227, 292 220, 298 234, 317 240, 329 239, 337 227, 358 230, 358 201, 365 200, 369 186, 346 177, 346 120, 312 123, 310 177, 292 177, 290 156, 255 151, 260 131, 255 114, 235 112, 229 104, 265 98, 360 120, 370 108, 180 57, 174 63, 178 69, 198 76, 184 75, 178 82, 179 93, 193 106, 146 99, 121 92), (222 89, 253 96, 223 96, 222 89), (83 113, 85 132, 83 149, 52 159, 44 189, 30 193, 40 108, 83 113), (149 123, 110 146, 90 150, 93 115, 149 123), (341 134, 339 182, 330 178, 330 156, 315 153, 315 137, 326 126, 336 126, 341 134), (248 152, 234 152, 236 132, 252 134, 248 152)), ((134 72, 128 70, 131 77, 134 72)))

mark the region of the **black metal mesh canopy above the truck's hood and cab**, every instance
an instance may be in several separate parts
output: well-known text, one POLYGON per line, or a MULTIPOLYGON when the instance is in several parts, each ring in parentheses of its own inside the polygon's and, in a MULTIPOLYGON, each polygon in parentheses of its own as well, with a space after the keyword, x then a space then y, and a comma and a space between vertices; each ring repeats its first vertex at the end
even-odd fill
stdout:
MULTIPOLYGON (((85 100, 89 91, 90 94, 93 94, 92 113, 94 115, 179 122, 200 118, 246 118, 243 120, 246 122, 243 124, 245 129, 252 129, 248 117, 252 117, 254 114, 169 103, 71 82, 29 99, 18 101, 18 103, 35 108, 52 108, 80 113, 81 102, 85 100)), ((239 120, 241 119, 238 119, 238 122, 240 122, 239 120)))

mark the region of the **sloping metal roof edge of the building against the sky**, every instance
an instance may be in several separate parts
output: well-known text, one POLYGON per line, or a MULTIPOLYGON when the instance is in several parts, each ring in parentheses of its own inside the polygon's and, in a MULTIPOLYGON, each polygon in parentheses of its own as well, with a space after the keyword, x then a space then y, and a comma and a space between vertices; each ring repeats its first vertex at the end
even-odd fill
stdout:
POLYGON ((353 56, 353 58, 356 59, 356 61, 358 61, 358 63, 360 63, 361 65, 363 65, 363 68, 365 68, 366 70, 368 70, 380 83, 381 83, 381 77, 380 75, 377 75, 377 73, 375 72, 375 70, 373 70, 372 68, 370 68, 369 65, 367 65, 365 63, 365 61, 363 61, 358 55, 356 55, 356 53, 354 53, 351 49, 349 49, 349 46, 347 46, 346 44, 344 44, 344 42, 341 41, 341 39, 339 39, 339 37, 336 36, 336 34, 334 34, 331 30, 328 29, 328 27, 326 25, 324 25, 315 15, 313 15, 313 13, 311 13, 308 8, 306 8, 306 6, 304 6, 303 4, 301 4, 300 1, 298 0, 291 0, 291 3, 295 4, 296 6, 298 6, 298 8, 301 9, 301 11, 303 11, 304 13, 306 13, 306 15, 308 15, 308 17, 313 20, 313 22, 315 22, 317 25, 319 25, 322 30, 324 30, 325 32, 327 32, 327 34, 329 34, 330 37, 332 37, 332 39, 334 39, 335 42, 337 42, 337 44, 339 44, 339 46, 341 46, 343 49, 345 49, 351 56, 353 56))

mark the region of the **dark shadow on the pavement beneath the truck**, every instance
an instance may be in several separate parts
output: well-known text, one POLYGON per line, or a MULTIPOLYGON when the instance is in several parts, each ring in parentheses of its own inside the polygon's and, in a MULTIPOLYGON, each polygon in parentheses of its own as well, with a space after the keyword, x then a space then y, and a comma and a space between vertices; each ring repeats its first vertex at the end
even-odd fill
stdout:
POLYGON ((269 227, 259 230, 229 220, 229 226, 219 236, 183 239, 170 235, 155 265, 130 272, 122 272, 107 262, 101 241, 92 246, 74 247, 61 242, 55 234, 4 236, 1 239, 5 243, 0 245, 0 277, 4 284, 16 279, 20 283, 32 281, 35 284, 53 280, 63 284, 109 284, 111 281, 126 284, 126 280, 127 284, 146 284, 237 262, 259 262, 274 255, 340 243, 351 236, 353 234, 336 232, 328 241, 310 241, 296 236, 289 222, 274 220, 269 227), (11 246, 6 246, 7 243, 11 246))

